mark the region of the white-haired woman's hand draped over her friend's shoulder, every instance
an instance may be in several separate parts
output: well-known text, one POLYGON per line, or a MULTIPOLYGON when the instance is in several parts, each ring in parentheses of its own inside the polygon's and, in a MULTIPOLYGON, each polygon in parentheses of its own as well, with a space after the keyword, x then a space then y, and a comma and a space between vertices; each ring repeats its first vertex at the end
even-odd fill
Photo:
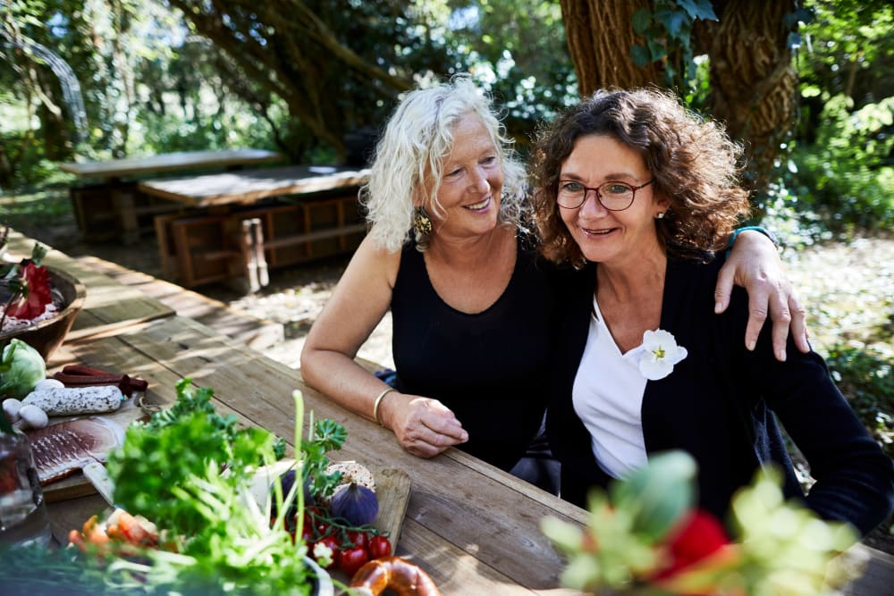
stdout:
POLYGON ((773 322, 773 353, 786 359, 786 340, 791 328, 792 339, 802 352, 810 351, 807 342, 805 310, 782 271, 779 252, 771 239, 759 231, 743 231, 736 237, 730 257, 721 268, 714 290, 715 313, 730 306, 733 284, 748 292, 748 325, 745 345, 754 349, 769 311, 773 322))

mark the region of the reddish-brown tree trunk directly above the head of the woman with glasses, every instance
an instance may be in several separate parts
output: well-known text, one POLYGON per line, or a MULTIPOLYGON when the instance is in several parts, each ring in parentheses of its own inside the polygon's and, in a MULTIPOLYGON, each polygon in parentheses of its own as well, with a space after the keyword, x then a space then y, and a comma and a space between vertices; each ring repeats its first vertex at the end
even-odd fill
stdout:
POLYGON ((656 63, 640 68, 630 48, 645 44, 631 26, 633 13, 648 0, 561 0, 562 21, 581 97, 598 88, 661 84, 656 63))

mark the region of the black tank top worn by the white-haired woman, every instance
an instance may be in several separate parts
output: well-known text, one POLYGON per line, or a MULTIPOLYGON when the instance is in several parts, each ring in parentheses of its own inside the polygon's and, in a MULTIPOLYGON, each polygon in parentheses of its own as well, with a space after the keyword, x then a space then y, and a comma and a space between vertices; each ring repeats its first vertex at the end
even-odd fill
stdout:
POLYGON ((525 244, 502 296, 468 315, 438 296, 409 242, 391 305, 397 389, 451 408, 468 432, 459 448, 503 470, 540 427, 553 347, 552 265, 525 244))

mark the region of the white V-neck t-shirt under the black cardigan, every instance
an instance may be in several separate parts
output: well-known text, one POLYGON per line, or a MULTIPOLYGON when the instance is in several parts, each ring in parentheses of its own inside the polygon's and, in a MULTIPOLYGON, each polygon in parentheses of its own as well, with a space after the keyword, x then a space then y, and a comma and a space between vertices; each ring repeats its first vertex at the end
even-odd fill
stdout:
POLYGON ((639 372, 644 348, 621 354, 595 297, 593 308, 571 397, 574 411, 590 432, 599 466, 622 478, 647 460, 641 412, 646 379, 639 372))

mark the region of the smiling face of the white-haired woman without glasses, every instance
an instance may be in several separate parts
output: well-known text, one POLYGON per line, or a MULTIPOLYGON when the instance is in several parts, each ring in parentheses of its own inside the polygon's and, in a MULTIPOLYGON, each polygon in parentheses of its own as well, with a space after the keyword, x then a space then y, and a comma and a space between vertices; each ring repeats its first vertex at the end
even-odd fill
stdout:
POLYGON ((435 236, 478 236, 496 227, 503 172, 500 156, 484 123, 467 114, 453 129, 453 148, 443 159, 437 191, 443 207, 429 208, 435 236))

